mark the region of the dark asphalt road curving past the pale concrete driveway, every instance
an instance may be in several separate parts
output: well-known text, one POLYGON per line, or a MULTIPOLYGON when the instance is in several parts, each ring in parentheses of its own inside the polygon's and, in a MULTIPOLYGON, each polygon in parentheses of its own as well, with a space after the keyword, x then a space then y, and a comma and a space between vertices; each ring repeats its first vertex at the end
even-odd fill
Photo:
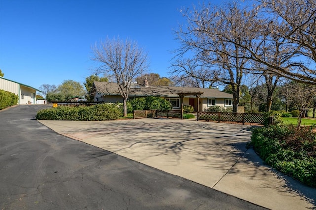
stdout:
POLYGON ((0 111, 1 210, 263 209, 59 135, 34 119, 41 108, 0 111))

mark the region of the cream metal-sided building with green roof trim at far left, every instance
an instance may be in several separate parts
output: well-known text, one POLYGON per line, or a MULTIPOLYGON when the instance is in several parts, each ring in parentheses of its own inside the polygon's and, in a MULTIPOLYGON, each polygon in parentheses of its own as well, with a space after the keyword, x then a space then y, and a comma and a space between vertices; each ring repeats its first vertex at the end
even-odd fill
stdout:
POLYGON ((17 95, 19 97, 18 104, 36 104, 36 91, 41 92, 29 85, 15 82, 2 76, 0 76, 0 89, 17 95))

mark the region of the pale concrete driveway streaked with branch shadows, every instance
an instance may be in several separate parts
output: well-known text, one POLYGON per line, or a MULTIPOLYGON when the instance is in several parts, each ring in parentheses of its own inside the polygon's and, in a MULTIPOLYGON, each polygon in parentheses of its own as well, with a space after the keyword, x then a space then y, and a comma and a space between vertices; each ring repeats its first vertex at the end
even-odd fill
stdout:
POLYGON ((316 190, 265 166, 249 126, 178 119, 45 121, 57 133, 270 209, 316 208, 316 190))

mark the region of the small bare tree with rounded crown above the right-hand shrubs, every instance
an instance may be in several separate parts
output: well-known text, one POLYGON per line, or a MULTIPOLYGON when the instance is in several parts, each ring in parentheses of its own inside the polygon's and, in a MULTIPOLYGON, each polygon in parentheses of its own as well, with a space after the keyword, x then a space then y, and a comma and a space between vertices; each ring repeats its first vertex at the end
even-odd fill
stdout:
POLYGON ((287 100, 300 111, 298 118, 298 127, 300 127, 305 111, 313 106, 313 99, 316 97, 316 86, 292 81, 283 87, 283 94, 286 94, 287 100))

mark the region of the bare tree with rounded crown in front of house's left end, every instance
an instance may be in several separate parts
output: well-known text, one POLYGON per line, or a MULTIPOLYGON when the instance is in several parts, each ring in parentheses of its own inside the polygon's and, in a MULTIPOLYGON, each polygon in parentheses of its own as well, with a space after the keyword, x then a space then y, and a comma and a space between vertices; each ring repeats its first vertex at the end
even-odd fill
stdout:
POLYGON ((119 38, 100 41, 92 47, 93 61, 100 63, 96 73, 116 78, 118 91, 123 98, 124 116, 127 116, 127 99, 131 82, 148 69, 147 53, 136 42, 119 38))

